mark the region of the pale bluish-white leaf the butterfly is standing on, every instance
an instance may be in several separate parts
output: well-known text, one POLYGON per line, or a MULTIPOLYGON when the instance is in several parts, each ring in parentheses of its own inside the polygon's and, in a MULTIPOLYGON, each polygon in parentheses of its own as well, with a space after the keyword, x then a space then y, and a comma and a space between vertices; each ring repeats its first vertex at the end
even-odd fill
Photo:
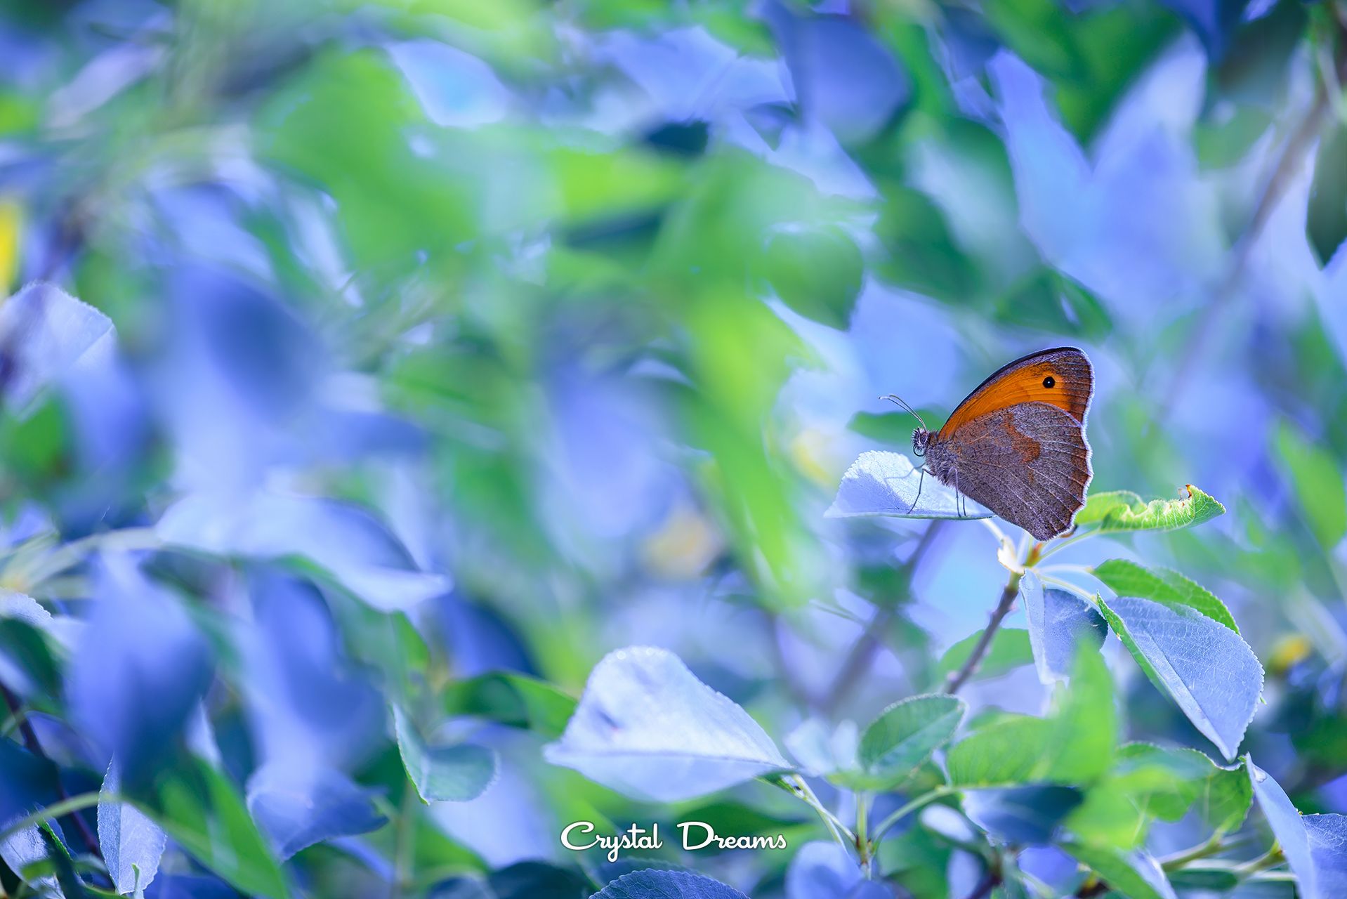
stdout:
POLYGON ((902 453, 870 450, 851 464, 838 485, 827 518, 991 518, 991 512, 912 466, 902 453), (919 503, 920 500, 920 503, 919 503), (959 508, 964 507, 964 515, 959 508))

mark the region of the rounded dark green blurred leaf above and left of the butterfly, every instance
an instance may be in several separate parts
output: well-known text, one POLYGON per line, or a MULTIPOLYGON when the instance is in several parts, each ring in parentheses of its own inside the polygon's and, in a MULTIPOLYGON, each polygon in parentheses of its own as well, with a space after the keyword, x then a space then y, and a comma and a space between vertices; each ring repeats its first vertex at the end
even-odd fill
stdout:
POLYGON ((787 306, 845 330, 861 295, 865 263, 855 241, 831 226, 775 235, 766 245, 764 271, 787 306))

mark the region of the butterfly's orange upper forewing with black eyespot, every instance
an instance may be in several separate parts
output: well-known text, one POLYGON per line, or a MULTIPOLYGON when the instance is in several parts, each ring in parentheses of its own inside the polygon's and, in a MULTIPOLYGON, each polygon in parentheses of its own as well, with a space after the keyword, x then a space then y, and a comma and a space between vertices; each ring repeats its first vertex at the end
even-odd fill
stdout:
POLYGON ((1002 365, 978 384, 950 415, 938 439, 947 441, 968 422, 1020 403, 1056 406, 1084 427, 1091 395, 1094 368, 1083 352, 1074 346, 1044 349, 1002 365))

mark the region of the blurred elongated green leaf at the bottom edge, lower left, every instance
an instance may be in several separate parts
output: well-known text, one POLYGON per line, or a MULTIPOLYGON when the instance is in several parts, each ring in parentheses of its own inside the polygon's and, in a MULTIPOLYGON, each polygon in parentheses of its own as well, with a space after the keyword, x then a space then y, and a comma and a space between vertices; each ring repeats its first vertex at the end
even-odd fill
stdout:
POLYGON ((271 845, 233 783, 203 762, 174 770, 145 809, 197 861, 240 892, 286 899, 290 891, 271 845))

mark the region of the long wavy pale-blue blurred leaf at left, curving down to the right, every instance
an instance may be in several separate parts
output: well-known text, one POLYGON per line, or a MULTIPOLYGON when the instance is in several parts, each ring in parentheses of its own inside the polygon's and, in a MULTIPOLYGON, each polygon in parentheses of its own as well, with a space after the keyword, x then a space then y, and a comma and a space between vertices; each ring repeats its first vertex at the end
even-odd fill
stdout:
POLYGON ((383 612, 414 608, 453 586, 447 576, 418 570, 373 515, 322 497, 195 493, 170 507, 155 531, 166 543, 218 555, 308 559, 383 612))

